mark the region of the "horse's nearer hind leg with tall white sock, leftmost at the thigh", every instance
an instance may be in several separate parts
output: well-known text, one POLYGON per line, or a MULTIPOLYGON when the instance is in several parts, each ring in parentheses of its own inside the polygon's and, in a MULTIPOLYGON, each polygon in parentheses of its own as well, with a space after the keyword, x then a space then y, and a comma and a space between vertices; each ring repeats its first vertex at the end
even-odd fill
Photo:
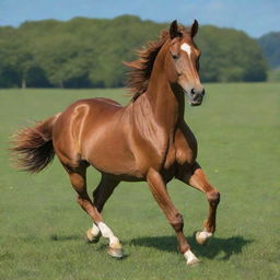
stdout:
POLYGON ((89 194, 86 191, 86 178, 85 171, 86 166, 81 165, 77 168, 66 167, 69 173, 70 182, 78 192, 77 201, 82 207, 82 209, 93 219, 96 224, 95 229, 97 232, 101 231, 102 235, 105 238, 109 240, 109 249, 108 253, 113 257, 120 258, 122 257, 122 248, 119 243, 118 237, 116 237, 113 231, 104 223, 104 220, 97 210, 97 208, 92 203, 89 194))

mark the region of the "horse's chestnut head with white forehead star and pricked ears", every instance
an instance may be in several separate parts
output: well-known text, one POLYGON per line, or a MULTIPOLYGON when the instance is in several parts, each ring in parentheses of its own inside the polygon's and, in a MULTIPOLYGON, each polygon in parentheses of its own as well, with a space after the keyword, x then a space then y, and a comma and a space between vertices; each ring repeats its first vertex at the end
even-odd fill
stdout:
POLYGON ((170 82, 187 95, 192 106, 200 105, 205 96, 205 89, 198 74, 200 50, 194 42, 197 31, 196 20, 189 30, 178 26, 174 21, 170 27, 171 39, 167 43, 168 50, 165 57, 170 82))

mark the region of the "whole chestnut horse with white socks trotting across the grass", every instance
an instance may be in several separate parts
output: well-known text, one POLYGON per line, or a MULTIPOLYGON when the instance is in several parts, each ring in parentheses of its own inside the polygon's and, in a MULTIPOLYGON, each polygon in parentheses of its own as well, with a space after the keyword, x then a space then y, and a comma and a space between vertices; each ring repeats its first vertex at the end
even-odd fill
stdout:
POLYGON ((80 100, 21 130, 14 140, 12 151, 22 170, 39 172, 55 154, 58 156, 78 192, 78 202, 93 219, 88 240, 108 238, 108 253, 114 257, 122 257, 122 247, 101 212, 121 180, 148 183, 176 232, 178 249, 188 265, 199 260, 183 233, 183 215, 167 194, 166 184, 172 178, 202 191, 209 201, 209 215, 203 230, 196 234, 197 242, 206 243, 215 231, 220 194, 197 163, 197 141, 184 121, 185 96, 197 106, 205 95, 198 74, 200 50, 194 43, 197 31, 197 21, 190 28, 174 21, 170 31, 139 51, 139 60, 127 62, 133 93, 127 106, 107 98, 80 100), (93 200, 86 191, 90 165, 102 173, 93 200))

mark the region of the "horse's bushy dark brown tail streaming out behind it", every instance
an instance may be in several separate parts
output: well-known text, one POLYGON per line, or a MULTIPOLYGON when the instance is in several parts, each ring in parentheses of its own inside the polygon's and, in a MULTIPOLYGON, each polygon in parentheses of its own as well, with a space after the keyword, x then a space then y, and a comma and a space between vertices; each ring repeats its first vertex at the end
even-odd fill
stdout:
POLYGON ((52 126, 56 116, 38 121, 13 136, 10 149, 14 166, 22 171, 37 173, 54 160, 52 126))

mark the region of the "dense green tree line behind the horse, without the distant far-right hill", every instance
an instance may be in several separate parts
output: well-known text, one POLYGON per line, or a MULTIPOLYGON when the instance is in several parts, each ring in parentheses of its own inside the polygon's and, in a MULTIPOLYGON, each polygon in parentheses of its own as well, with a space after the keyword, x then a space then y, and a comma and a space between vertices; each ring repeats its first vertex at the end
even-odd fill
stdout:
MULTIPOLYGON (((135 51, 167 27, 132 15, 0 27, 0 88, 124 86, 121 61, 136 59, 135 51)), ((244 32, 201 26, 196 43, 202 50, 202 81, 266 80, 262 51, 244 32)))

